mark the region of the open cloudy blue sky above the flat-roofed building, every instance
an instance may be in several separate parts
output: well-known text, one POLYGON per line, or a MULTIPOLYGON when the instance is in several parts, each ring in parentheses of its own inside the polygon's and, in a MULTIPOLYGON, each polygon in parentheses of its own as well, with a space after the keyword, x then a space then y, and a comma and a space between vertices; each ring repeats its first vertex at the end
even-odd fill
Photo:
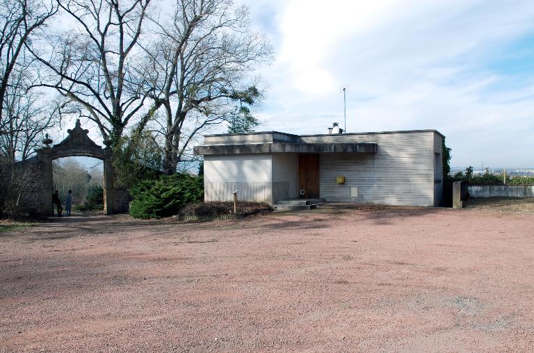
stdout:
MULTIPOLYGON (((236 3, 240 3, 236 0, 236 3)), ((275 60, 257 131, 436 129, 451 165, 534 167, 532 0, 246 0, 275 60)))

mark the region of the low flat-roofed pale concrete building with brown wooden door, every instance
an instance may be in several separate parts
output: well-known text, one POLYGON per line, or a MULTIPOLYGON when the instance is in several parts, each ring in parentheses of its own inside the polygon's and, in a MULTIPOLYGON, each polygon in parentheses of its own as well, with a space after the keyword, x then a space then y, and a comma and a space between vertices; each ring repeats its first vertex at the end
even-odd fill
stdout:
MULTIPOLYGON (((337 127, 337 129, 336 129, 337 127)), ((204 199, 273 204, 350 202, 439 206, 442 142, 435 130, 321 135, 277 131, 204 136, 204 199), (307 202, 306 200, 314 200, 307 202)))

